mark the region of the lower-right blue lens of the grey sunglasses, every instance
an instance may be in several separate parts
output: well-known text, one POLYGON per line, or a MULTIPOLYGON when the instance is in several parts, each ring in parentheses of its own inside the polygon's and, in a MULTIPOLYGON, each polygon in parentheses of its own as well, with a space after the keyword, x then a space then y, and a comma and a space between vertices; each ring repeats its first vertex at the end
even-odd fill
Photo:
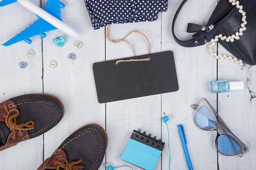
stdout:
POLYGON ((227 135, 220 135, 217 140, 217 148, 223 154, 234 154, 241 150, 239 144, 227 135))

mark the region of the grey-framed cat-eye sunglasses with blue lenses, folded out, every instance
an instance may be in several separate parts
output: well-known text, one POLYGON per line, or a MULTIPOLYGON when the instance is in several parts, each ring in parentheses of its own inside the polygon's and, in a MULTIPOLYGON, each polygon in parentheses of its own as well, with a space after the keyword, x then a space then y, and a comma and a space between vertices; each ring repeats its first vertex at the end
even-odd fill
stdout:
POLYGON ((218 152, 227 156, 239 154, 238 156, 242 157, 249 151, 248 147, 229 130, 207 99, 202 98, 199 106, 191 105, 191 107, 195 109, 194 121, 196 126, 202 130, 217 131, 215 145, 218 152))

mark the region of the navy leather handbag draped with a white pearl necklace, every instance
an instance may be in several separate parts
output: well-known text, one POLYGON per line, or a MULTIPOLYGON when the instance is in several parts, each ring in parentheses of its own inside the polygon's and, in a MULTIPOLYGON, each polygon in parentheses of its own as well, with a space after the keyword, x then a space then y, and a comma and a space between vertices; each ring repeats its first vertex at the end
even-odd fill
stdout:
MULTIPOLYGON (((175 13, 172 32, 175 41, 181 46, 194 47, 208 43, 211 55, 249 65, 256 64, 256 3, 255 0, 220 0, 206 26, 188 24, 187 32, 195 32, 191 40, 179 40, 174 33, 175 21, 183 5, 183 0, 175 13), (219 42, 235 57, 213 52, 211 46, 219 42)), ((242 66, 243 67, 243 66, 242 66)))

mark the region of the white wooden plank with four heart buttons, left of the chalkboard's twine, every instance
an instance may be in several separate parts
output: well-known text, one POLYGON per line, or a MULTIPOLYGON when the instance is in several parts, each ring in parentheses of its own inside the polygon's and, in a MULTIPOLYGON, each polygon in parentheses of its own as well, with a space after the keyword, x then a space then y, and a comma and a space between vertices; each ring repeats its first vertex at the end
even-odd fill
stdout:
MULTIPOLYGON (((58 96, 65 106, 65 115, 61 122, 44 137, 44 158, 46 159, 72 132, 91 123, 105 127, 105 105, 97 102, 92 64, 105 60, 105 30, 93 30, 83 1, 66 1, 61 9, 63 22, 79 33, 72 38, 54 30, 43 40, 43 89, 44 93, 58 96), (63 36, 66 43, 58 47, 53 38, 63 36), (81 49, 74 42, 81 41, 81 49), (74 53, 76 60, 68 59, 74 53), (57 62, 56 68, 50 68, 50 61, 57 62)), ((88 146, 90 147, 90 146, 88 146)), ((86 149, 86 148, 84 148, 86 149)), ((105 169, 102 164, 101 170, 105 169)))

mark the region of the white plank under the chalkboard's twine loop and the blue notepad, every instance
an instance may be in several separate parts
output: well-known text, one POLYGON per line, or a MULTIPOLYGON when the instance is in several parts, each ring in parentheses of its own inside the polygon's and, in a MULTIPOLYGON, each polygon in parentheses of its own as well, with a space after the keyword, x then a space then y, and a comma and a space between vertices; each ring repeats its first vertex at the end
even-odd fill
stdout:
MULTIPOLYGON (((113 40, 123 38, 130 31, 141 31, 151 44, 151 53, 161 51, 161 15, 154 22, 138 22, 113 24, 110 26, 110 37, 113 40)), ((127 40, 132 43, 137 55, 148 52, 145 38, 137 33, 131 34, 127 40)), ((131 47, 125 42, 113 44, 106 40, 106 60, 133 57, 131 47)), ((125 76, 125 75, 124 75, 125 76)), ((161 95, 152 95, 106 103, 106 125, 109 134, 109 146, 106 161, 114 167, 127 165, 119 157, 124 150, 133 130, 141 129, 152 136, 161 137, 161 95)), ((161 169, 161 160, 156 170, 161 169)))

